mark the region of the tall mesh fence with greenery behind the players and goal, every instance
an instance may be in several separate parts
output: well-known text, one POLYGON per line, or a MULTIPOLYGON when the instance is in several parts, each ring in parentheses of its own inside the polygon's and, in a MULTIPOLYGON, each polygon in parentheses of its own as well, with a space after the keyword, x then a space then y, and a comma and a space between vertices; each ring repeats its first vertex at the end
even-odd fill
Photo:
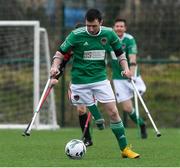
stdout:
MULTIPOLYGON (((0 20, 39 20, 48 30, 53 55, 75 23, 84 21, 88 8, 102 11, 105 26, 112 26, 116 17, 125 18, 128 32, 136 38, 141 60, 180 59, 180 0, 0 0, 0 20)), ((179 64, 141 66, 148 87, 144 98, 153 117, 161 126, 180 126, 179 64)), ((77 125, 76 110, 64 97, 69 69, 70 66, 66 80, 56 87, 56 95, 59 122, 73 126, 77 125)))

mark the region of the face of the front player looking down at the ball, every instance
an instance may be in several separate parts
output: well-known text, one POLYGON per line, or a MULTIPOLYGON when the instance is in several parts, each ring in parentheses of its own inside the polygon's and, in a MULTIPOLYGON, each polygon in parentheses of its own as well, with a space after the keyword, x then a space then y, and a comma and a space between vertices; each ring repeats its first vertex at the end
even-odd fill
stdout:
POLYGON ((99 32, 101 25, 102 25, 102 22, 99 22, 98 19, 95 19, 92 22, 89 22, 86 20, 87 30, 92 35, 96 35, 99 32))

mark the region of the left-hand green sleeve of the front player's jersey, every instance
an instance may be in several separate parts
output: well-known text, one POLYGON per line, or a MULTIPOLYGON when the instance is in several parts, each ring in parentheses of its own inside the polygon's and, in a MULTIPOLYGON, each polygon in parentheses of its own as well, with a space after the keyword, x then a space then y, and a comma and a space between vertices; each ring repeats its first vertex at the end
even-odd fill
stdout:
POLYGON ((65 39, 65 41, 58 47, 58 51, 62 52, 62 54, 70 51, 75 43, 75 34, 71 32, 65 39))

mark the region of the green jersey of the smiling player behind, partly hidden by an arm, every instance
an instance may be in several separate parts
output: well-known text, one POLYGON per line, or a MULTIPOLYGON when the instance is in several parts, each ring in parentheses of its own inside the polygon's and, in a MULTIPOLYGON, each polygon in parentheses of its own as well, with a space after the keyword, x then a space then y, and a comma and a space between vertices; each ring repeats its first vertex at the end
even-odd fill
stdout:
MULTIPOLYGON (((136 41, 134 37, 128 33, 124 33, 123 37, 121 39, 119 38, 119 41, 121 43, 122 50, 126 54, 126 58, 129 65, 129 55, 137 54, 136 41)), ((121 76, 121 71, 123 71, 123 69, 121 66, 119 66, 117 57, 115 56, 115 53, 113 50, 111 51, 111 57, 112 57, 112 71, 113 71, 112 78, 113 79, 127 79, 126 77, 121 76)), ((139 75, 139 73, 137 75, 139 75)))

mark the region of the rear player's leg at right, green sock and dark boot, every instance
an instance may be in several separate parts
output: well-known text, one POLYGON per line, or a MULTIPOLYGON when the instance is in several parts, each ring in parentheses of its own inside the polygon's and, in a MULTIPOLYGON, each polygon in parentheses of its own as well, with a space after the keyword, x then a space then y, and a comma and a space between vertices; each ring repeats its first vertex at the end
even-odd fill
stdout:
POLYGON ((139 124, 141 130, 141 138, 143 139, 147 138, 146 124, 142 119, 142 117, 139 116, 139 119, 137 119, 136 111, 135 108, 133 107, 132 100, 130 99, 123 101, 121 102, 121 104, 124 113, 127 113, 135 124, 139 124))

